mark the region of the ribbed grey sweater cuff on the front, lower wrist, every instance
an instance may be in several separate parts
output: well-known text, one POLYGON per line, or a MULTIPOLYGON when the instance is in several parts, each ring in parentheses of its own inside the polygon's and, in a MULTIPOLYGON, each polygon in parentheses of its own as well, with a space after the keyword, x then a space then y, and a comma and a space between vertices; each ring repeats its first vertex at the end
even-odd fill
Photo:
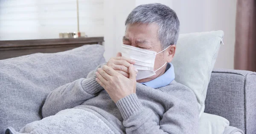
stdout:
POLYGON ((142 104, 136 94, 131 94, 122 98, 116 102, 116 106, 121 112, 122 118, 126 120, 133 114, 141 111, 142 104))

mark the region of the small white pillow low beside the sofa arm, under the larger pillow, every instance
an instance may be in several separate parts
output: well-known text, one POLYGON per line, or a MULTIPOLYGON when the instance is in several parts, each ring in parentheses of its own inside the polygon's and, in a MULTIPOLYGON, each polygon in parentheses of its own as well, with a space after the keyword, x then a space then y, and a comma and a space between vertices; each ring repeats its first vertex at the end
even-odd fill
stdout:
POLYGON ((203 113, 199 122, 199 134, 223 134, 229 121, 224 117, 203 113))

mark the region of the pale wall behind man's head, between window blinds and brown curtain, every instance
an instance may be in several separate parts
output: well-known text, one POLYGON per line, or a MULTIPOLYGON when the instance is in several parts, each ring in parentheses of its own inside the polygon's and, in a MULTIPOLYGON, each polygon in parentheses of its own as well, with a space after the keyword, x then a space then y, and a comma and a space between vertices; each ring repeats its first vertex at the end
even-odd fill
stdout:
POLYGON ((224 31, 215 68, 233 69, 236 0, 105 0, 105 58, 121 50, 125 19, 133 8, 146 3, 163 3, 177 12, 180 33, 224 31), (111 8, 109 8, 111 7, 111 8))

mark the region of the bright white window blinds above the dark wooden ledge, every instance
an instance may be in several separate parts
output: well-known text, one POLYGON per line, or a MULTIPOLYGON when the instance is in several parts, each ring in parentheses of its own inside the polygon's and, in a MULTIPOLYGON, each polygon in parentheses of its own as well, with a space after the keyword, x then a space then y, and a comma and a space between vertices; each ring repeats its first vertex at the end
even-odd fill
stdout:
MULTIPOLYGON (((104 0, 79 0, 80 31, 103 36, 104 0)), ((51 39, 77 31, 76 0, 0 0, 0 40, 51 39)))

